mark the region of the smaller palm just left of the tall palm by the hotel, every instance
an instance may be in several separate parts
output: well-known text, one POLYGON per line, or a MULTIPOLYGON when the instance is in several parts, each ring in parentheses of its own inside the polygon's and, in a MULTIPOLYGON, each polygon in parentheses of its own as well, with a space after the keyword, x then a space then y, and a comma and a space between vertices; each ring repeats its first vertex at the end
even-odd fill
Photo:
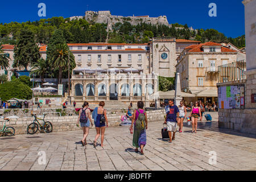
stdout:
POLYGON ((40 75, 41 77, 41 85, 44 82, 44 76, 48 72, 48 64, 47 61, 43 58, 39 59, 37 62, 31 64, 31 74, 40 75))

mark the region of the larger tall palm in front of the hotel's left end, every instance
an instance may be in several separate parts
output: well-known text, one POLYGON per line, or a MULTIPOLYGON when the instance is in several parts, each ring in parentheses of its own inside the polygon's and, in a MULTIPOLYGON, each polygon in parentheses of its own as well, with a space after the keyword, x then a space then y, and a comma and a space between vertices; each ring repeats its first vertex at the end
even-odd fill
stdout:
POLYGON ((76 67, 75 57, 67 44, 57 44, 53 49, 51 65, 53 68, 59 68, 59 84, 61 83, 61 78, 63 71, 68 69, 68 55, 69 55, 69 65, 73 69, 76 67))

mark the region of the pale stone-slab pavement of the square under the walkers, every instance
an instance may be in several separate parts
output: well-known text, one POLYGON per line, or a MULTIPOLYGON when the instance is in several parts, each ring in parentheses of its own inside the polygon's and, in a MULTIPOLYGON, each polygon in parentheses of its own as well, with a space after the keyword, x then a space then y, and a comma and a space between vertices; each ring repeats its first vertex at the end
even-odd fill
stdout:
MULTIPOLYGON (((96 134, 90 129, 88 145, 76 144, 82 131, 0 137, 0 170, 255 170, 256 137, 199 123, 197 134, 184 124, 172 143, 162 140, 162 123, 148 124, 145 155, 136 154, 129 126, 110 127, 104 149, 93 148, 96 134), (38 152, 46 152, 46 164, 38 152), (217 163, 209 164, 215 151, 217 163)), ((100 141, 100 140, 99 140, 100 141)))

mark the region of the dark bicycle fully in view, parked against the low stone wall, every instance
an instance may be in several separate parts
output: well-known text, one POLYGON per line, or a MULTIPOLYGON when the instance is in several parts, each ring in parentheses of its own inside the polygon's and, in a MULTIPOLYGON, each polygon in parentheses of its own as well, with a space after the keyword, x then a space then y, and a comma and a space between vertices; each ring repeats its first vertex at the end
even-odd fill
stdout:
MULTIPOLYGON (((45 118, 44 114, 44 118, 45 118)), ((34 121, 32 123, 30 123, 30 125, 27 126, 27 133, 28 134, 35 134, 38 130, 40 130, 40 133, 44 133, 44 131, 46 131, 46 133, 51 133, 52 132, 52 123, 49 121, 44 121, 44 118, 38 118, 36 117, 35 114, 31 114, 31 117, 34 117, 34 121), (43 125, 40 124, 40 122, 38 120, 42 120, 43 121, 43 125), (40 127, 39 127, 40 126, 40 127)))

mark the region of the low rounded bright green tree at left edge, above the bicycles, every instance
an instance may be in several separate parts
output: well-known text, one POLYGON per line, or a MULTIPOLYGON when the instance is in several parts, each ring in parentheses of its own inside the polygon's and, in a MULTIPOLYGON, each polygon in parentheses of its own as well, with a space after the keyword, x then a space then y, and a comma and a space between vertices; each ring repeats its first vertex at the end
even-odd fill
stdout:
POLYGON ((13 97, 30 100, 32 98, 32 90, 23 82, 15 79, 0 84, 0 97, 3 101, 10 100, 13 97))

